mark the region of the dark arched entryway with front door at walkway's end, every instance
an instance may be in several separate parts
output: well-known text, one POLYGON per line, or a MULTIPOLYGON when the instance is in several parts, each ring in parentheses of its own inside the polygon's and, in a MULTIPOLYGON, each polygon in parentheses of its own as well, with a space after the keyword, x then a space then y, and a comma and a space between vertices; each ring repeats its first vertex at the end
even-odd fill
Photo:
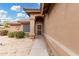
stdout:
POLYGON ((35 35, 43 35, 44 33, 44 19, 42 16, 36 16, 35 18, 35 35))

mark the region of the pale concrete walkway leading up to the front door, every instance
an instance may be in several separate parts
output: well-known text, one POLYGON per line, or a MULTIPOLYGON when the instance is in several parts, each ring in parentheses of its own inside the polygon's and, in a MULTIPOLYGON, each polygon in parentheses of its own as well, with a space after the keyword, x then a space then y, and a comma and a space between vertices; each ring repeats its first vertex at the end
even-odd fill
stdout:
POLYGON ((43 37, 35 39, 30 56, 48 56, 47 47, 43 37))

